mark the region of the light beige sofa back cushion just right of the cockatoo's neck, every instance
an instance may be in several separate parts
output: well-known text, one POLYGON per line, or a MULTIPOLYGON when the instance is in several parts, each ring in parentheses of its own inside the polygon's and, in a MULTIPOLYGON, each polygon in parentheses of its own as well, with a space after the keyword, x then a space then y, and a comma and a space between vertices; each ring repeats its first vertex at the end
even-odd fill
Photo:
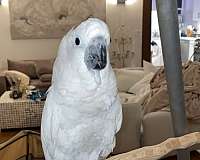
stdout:
POLYGON ((120 92, 127 92, 136 82, 144 77, 144 70, 141 69, 114 69, 117 87, 120 92))

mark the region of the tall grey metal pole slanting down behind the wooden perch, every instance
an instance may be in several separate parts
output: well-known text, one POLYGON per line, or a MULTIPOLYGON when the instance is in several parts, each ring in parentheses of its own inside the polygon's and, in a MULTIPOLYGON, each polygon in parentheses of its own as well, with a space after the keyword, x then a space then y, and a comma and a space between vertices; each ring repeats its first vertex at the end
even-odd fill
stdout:
MULTIPOLYGON (((176 0, 156 0, 161 44, 175 136, 187 133, 182 80, 181 48, 176 0)), ((178 151, 178 160, 189 160, 186 150, 178 151)))

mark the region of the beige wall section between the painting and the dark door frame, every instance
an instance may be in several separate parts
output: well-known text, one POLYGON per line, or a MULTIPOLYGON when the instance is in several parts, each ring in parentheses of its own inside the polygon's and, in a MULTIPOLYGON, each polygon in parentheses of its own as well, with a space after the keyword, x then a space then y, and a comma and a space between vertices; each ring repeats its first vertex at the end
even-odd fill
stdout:
POLYGON ((110 55, 115 67, 140 66, 142 59, 142 15, 143 0, 136 0, 132 5, 113 5, 107 3, 106 21, 110 27, 112 36, 112 46, 110 55), (125 55, 115 55, 121 44, 115 43, 125 38, 125 55), (114 48, 114 49, 113 49, 114 48), (133 52, 133 54, 132 54, 133 52), (125 56, 125 65, 120 61, 120 57, 125 56))

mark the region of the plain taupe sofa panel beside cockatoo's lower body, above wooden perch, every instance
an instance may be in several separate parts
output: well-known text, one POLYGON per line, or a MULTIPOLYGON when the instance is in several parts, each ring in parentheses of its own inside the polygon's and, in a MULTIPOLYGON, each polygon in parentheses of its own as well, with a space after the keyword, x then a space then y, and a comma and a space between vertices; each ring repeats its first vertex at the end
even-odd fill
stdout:
POLYGON ((141 147, 141 105, 136 103, 122 104, 122 112, 123 122, 116 136, 116 147, 113 151, 114 155, 141 147))

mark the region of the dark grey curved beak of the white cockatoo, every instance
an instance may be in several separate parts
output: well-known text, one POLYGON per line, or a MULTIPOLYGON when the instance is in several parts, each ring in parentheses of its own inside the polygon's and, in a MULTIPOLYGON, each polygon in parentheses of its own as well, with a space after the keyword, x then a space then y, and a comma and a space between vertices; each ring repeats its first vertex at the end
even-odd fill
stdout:
POLYGON ((103 37, 95 37, 90 41, 84 61, 88 69, 102 70, 106 67, 107 46, 103 37))

